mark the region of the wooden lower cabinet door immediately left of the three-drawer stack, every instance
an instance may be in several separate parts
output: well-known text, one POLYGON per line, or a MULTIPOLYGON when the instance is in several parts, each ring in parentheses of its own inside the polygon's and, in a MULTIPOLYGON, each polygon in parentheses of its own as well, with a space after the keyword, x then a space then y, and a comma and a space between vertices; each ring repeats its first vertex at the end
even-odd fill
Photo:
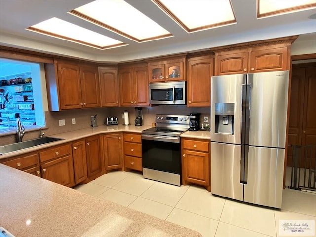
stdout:
POLYGON ((122 136, 121 132, 103 135, 105 172, 123 168, 122 136))

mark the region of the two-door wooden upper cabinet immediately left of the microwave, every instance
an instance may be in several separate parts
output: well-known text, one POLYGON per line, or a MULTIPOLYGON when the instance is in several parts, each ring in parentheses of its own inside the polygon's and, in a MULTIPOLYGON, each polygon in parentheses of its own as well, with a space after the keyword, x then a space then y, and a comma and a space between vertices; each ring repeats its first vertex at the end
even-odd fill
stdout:
POLYGON ((121 106, 149 106, 148 67, 137 64, 120 67, 119 98, 121 106))

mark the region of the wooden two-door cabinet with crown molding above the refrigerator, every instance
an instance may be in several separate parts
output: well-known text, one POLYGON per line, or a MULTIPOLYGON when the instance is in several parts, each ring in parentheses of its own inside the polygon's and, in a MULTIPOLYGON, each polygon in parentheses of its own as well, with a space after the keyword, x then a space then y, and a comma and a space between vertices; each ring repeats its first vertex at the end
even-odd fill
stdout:
POLYGON ((291 44, 296 38, 291 36, 212 48, 215 75, 290 70, 291 44))

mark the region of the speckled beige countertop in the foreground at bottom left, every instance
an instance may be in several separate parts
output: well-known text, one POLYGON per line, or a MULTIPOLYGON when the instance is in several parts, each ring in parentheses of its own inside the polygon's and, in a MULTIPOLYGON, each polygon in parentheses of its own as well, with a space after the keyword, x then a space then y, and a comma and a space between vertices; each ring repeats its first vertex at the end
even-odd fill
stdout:
POLYGON ((3 164, 0 180, 0 226, 16 237, 202 237, 3 164))

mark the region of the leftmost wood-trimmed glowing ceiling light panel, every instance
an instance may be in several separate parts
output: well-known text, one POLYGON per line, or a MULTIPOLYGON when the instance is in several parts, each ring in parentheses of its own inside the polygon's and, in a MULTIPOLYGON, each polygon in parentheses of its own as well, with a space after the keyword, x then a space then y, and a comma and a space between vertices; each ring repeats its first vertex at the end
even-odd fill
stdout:
POLYGON ((103 36, 83 27, 53 17, 33 25, 26 30, 34 31, 51 37, 72 41, 98 49, 124 46, 121 41, 103 36))

